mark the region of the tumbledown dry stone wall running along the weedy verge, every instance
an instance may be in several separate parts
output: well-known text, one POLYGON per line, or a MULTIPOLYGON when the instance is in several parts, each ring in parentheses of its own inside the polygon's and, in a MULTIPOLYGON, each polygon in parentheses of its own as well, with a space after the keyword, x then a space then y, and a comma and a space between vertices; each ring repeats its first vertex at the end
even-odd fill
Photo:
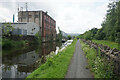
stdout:
POLYGON ((113 66, 114 66, 113 72, 117 76, 120 76, 120 51, 119 50, 117 50, 116 48, 112 49, 102 44, 93 43, 90 40, 85 40, 85 39, 81 39, 81 40, 87 45, 89 45, 90 47, 93 47, 94 49, 96 49, 97 54, 98 54, 98 50, 100 49, 100 53, 101 53, 100 55, 105 57, 108 61, 113 61, 113 66))

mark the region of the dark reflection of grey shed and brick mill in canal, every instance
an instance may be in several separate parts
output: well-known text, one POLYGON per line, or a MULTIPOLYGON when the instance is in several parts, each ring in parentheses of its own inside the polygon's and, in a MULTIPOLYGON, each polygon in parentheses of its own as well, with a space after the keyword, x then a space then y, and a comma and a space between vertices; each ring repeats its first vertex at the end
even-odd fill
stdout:
MULTIPOLYGON (((27 52, 18 56, 3 57, 4 64, 17 64, 26 67, 33 65, 40 57, 48 55, 51 51, 55 51, 56 43, 43 43, 42 47, 37 50, 27 52)), ((16 53, 17 54, 17 53, 16 53)))

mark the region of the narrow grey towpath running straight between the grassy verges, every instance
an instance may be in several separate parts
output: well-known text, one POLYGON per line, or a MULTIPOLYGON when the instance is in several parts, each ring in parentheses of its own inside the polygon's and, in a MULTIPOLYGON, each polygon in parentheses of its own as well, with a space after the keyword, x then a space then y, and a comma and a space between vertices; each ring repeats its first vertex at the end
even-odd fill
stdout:
POLYGON ((65 78, 93 78, 89 69, 86 69, 87 65, 86 57, 78 40, 65 78))

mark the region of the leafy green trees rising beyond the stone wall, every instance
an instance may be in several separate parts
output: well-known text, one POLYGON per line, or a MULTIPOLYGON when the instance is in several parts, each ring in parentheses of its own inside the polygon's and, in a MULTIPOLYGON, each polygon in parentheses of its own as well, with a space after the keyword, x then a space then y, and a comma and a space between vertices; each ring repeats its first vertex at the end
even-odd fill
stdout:
POLYGON ((112 1, 108 8, 102 28, 86 31, 80 38, 120 42, 120 1, 112 1))

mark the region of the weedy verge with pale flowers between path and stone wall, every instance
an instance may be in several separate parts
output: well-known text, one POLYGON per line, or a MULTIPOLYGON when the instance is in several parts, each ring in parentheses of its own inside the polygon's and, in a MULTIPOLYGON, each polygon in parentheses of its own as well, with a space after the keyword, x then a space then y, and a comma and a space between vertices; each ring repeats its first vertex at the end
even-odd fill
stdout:
POLYGON ((100 52, 99 55, 96 56, 96 50, 93 48, 90 48, 88 45, 83 43, 80 40, 82 49, 88 59, 88 67, 90 70, 93 72, 95 78, 113 78, 113 67, 112 61, 109 63, 108 61, 105 60, 105 58, 100 57, 100 52))

